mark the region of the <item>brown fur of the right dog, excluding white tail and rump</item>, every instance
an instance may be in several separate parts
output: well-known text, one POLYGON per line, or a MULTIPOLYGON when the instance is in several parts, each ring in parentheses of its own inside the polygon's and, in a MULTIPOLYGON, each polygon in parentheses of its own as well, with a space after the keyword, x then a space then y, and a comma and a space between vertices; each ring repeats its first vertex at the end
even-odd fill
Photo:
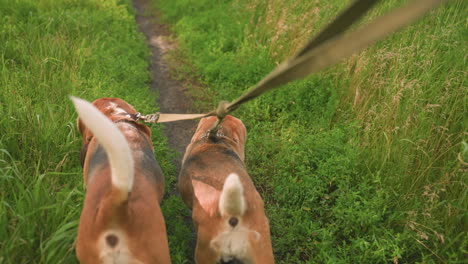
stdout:
POLYGON ((228 219, 219 212, 219 198, 226 177, 236 173, 242 183, 247 205, 239 224, 254 231, 248 236, 250 260, 259 264, 274 263, 263 201, 244 166, 245 126, 239 119, 226 116, 218 136, 210 139, 204 135, 215 121, 216 117, 208 117, 198 124, 187 146, 179 175, 179 189, 184 202, 192 209, 197 229, 195 260, 199 264, 217 263, 220 260, 219 252, 213 247, 213 240, 226 227, 228 219))

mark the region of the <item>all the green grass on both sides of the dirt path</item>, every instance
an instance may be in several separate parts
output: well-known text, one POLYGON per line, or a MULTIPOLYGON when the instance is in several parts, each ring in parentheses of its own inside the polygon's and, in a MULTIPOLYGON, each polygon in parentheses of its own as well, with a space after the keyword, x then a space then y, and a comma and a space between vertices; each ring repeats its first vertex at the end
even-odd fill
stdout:
MULTIPOLYGON (((401 1, 385 1, 375 16, 401 1)), ((347 1, 155 1, 200 110, 255 84, 347 1), (229 12, 226 12, 229 10, 229 12), (213 96, 206 96, 207 93, 213 96)), ((466 1, 235 115, 277 263, 463 263, 467 255, 466 1)), ((68 95, 153 112, 148 50, 126 0, 0 0, 0 263, 76 263, 81 139, 68 95)), ((153 142, 169 190, 175 167, 153 142)), ((173 263, 189 212, 163 201, 173 263)), ((189 235, 187 235, 189 234, 189 235)))

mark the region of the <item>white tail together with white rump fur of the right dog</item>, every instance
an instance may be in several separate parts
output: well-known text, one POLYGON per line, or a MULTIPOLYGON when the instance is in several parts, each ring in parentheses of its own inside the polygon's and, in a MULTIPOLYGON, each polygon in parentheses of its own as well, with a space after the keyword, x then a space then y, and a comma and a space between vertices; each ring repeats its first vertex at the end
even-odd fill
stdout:
POLYGON ((210 242, 221 258, 220 263, 250 263, 249 240, 258 240, 260 234, 243 226, 242 216, 246 210, 242 183, 237 174, 231 173, 219 199, 219 211, 226 223, 223 231, 210 242))

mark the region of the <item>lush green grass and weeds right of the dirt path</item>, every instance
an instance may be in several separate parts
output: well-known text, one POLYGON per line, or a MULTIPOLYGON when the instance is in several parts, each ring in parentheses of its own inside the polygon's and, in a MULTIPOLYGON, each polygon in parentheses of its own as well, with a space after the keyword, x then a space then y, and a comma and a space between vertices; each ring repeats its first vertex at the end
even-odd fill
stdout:
MULTIPOLYGON (((200 110, 233 100, 349 1, 161 1, 175 76, 200 110), (193 83, 193 82, 192 82, 193 83), (209 94, 209 96, 207 95, 209 94)), ((385 1, 366 20, 399 6, 385 1)), ((243 105, 247 166, 278 263, 462 263, 468 3, 243 105)))

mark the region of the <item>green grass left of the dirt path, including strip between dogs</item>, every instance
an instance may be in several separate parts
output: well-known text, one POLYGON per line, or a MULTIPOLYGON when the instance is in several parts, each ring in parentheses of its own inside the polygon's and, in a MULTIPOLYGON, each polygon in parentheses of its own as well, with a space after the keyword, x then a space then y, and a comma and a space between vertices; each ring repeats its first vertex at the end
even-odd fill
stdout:
MULTIPOLYGON (((153 112, 148 57, 128 1, 0 0, 0 263, 77 262, 85 190, 68 95, 153 112)), ((160 127, 152 130, 169 191, 175 167, 160 127)), ((187 212, 179 198, 165 201, 168 229, 179 231, 173 258, 183 259, 187 212)))

